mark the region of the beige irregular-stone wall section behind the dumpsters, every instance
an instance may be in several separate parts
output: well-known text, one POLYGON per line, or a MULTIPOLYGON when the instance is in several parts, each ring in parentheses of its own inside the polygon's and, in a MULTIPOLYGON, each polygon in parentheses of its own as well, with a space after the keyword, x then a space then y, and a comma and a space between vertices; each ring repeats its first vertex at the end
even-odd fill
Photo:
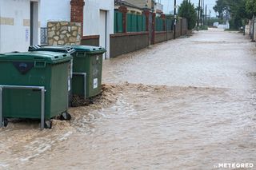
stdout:
POLYGON ((48 45, 80 45, 81 23, 48 22, 48 45))

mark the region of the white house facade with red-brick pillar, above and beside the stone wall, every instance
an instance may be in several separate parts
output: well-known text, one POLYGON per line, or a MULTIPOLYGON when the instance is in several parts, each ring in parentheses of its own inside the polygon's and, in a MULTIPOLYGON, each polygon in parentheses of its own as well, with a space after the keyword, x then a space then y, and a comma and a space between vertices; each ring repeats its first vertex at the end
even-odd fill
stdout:
POLYGON ((104 57, 110 57, 110 34, 114 33, 113 0, 42 0, 41 6, 42 29, 47 27, 47 22, 81 22, 81 39, 98 38, 98 43, 92 45, 106 48, 104 57))

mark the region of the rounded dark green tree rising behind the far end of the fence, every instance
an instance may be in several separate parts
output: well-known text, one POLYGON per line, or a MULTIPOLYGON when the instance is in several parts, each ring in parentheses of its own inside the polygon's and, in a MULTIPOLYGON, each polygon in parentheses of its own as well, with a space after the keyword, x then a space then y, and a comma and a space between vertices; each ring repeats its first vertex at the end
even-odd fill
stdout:
POLYGON ((197 22, 197 12, 194 8, 194 4, 183 0, 182 4, 178 6, 178 16, 186 18, 188 30, 194 29, 197 22))

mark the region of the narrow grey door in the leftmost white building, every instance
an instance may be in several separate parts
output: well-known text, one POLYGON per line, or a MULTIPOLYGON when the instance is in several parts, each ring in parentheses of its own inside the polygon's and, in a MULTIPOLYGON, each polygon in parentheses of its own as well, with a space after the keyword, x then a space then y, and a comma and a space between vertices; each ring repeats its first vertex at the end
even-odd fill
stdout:
POLYGON ((30 2, 30 45, 38 45, 38 2, 30 2))

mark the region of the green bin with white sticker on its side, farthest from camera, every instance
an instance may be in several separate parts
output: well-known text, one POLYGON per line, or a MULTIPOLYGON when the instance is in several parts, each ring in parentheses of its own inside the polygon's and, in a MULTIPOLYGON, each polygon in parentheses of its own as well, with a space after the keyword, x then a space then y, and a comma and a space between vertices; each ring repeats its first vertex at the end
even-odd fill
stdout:
MULTIPOLYGON (((102 90, 102 54, 106 49, 97 46, 75 45, 73 72, 86 73, 86 97, 94 97, 102 90)), ((74 95, 84 96, 81 76, 72 79, 74 95)))

